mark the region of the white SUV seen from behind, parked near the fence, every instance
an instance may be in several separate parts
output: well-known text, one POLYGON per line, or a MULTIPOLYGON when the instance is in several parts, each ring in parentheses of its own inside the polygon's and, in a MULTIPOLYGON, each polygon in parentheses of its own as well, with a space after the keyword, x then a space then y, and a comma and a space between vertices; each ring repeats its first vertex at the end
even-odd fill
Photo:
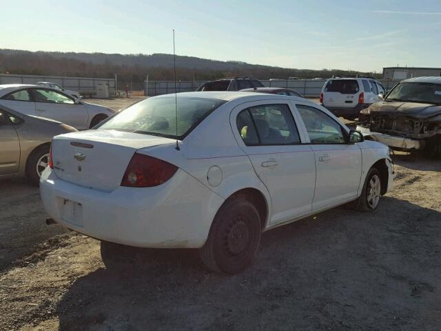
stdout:
POLYGON ((337 117, 353 120, 360 110, 380 101, 386 90, 379 81, 365 77, 328 79, 320 93, 320 105, 337 117))

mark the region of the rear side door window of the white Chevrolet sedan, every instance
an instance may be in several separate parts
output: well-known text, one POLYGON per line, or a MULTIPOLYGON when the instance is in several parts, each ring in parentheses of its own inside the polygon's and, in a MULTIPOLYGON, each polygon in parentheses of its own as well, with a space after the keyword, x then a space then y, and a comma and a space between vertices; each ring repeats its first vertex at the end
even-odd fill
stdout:
POLYGON ((251 107, 238 114, 237 127, 246 145, 291 145, 300 137, 287 105, 251 107))

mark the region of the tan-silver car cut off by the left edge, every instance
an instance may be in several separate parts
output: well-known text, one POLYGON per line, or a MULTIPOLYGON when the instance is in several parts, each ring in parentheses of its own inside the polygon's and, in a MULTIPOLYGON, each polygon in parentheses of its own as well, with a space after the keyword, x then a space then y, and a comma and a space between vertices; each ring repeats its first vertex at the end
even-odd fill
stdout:
POLYGON ((21 176, 38 185, 52 137, 72 131, 76 129, 61 122, 0 106, 0 179, 21 176))

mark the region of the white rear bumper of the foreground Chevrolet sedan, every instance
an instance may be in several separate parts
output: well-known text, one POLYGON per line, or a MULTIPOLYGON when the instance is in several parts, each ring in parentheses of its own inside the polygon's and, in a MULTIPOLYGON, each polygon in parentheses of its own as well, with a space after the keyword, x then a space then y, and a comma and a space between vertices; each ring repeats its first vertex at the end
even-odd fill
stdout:
POLYGON ((40 181, 46 212, 90 237, 150 248, 200 248, 224 199, 186 172, 154 188, 102 192, 59 179, 47 168, 40 181))

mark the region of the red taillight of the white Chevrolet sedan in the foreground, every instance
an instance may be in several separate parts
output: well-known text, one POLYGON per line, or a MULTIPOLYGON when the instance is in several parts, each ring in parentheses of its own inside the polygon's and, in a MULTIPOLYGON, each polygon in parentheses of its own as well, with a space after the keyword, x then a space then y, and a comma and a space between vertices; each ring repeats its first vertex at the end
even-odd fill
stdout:
POLYGON ((176 165, 135 153, 127 165, 121 186, 150 188, 161 185, 172 178, 177 170, 176 165))

